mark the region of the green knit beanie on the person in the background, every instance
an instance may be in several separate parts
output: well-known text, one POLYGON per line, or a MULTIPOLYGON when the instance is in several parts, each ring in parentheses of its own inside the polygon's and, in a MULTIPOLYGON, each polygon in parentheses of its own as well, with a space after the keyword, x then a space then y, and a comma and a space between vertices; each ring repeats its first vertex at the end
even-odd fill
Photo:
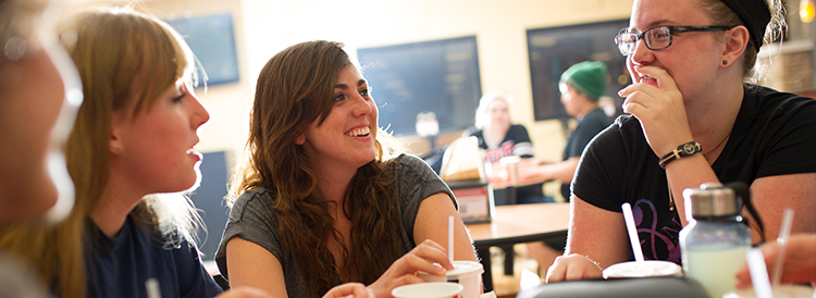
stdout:
POLYGON ((604 95, 608 74, 606 64, 601 61, 584 61, 567 69, 561 74, 561 82, 576 88, 593 101, 604 95))

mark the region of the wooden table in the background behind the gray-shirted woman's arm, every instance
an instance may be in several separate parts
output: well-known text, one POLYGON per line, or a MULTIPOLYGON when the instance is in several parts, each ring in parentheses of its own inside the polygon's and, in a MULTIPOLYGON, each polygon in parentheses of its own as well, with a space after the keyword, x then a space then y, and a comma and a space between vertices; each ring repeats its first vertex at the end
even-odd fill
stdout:
MULTIPOLYGON (((512 245, 566 239, 569 227, 569 203, 529 203, 497 206, 490 223, 467 224, 470 237, 484 266, 484 290, 493 290, 490 247, 505 249, 511 256, 512 245), (509 251, 507 248, 510 248, 509 251)), ((507 272, 508 263, 505 263, 507 272)), ((509 262, 512 272, 512 262, 509 262)))

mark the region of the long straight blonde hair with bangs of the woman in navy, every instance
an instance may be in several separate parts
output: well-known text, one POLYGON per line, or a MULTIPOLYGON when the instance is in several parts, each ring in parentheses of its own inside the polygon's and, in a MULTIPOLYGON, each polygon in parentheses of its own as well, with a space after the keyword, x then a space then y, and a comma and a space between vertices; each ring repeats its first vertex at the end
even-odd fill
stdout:
MULTIPOLYGON (((190 79, 193 53, 169 25, 128 8, 81 12, 64 26, 62 38, 85 95, 65 148, 76 188, 74 209, 54 226, 11 228, 0 238, 0 248, 27 258, 57 295, 84 297, 84 251, 92 245, 88 214, 108 184, 111 114, 132 111, 137 117, 156 103, 162 90, 190 79)), ((178 194, 148 196, 131 216, 153 226, 170 247, 185 240, 195 246, 193 235, 201 222, 191 203, 178 194)))

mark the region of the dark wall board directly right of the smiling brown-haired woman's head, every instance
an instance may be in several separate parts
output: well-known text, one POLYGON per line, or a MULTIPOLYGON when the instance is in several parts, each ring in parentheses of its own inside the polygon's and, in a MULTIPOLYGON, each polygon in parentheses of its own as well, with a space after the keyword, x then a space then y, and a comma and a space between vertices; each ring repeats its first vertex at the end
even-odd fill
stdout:
POLYGON ((380 108, 381 127, 416 135, 417 115, 434 112, 440 132, 473 125, 479 98, 475 36, 357 50, 380 108))

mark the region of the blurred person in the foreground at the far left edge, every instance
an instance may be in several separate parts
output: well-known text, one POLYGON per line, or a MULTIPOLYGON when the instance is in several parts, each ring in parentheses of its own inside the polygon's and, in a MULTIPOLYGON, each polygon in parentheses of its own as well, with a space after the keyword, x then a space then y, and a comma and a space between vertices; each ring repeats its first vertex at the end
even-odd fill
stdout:
MULTIPOLYGON (((60 221, 74 201, 63 146, 82 91, 48 3, 0 0, 0 235, 60 221)), ((37 271, 11 252, 0 247, 0 297, 46 297, 37 271)))

